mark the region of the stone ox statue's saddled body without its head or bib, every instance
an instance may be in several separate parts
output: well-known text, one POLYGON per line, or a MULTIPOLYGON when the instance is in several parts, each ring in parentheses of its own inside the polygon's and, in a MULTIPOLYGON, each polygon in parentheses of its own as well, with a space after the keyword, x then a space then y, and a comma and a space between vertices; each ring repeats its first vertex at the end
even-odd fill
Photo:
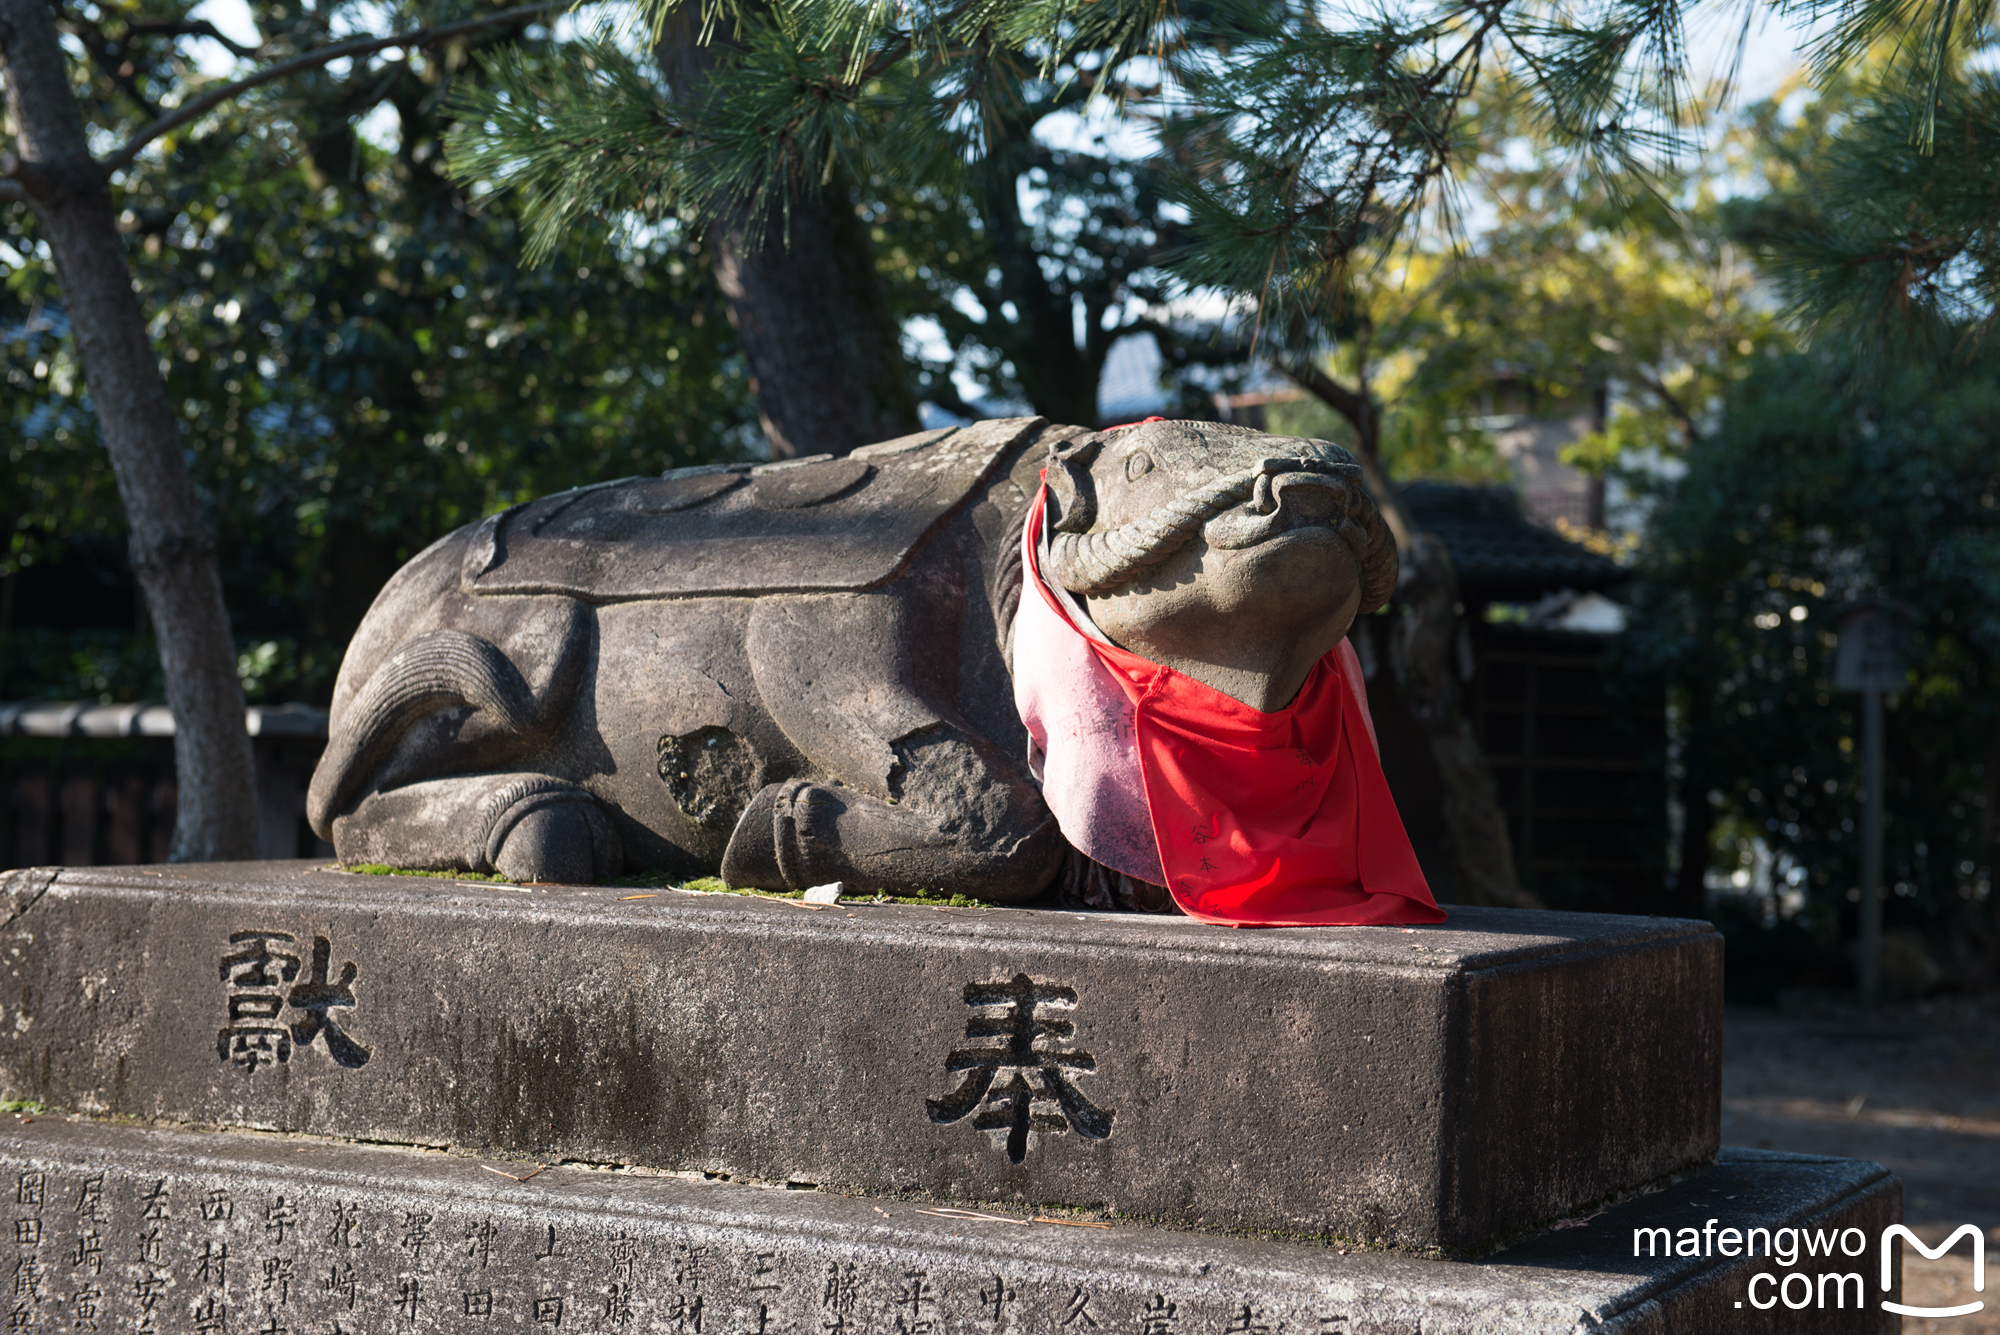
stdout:
POLYGON ((1078 432, 614 482, 438 540, 348 644, 308 819, 350 865, 1032 897, 1064 845, 1008 689, 1010 526, 1078 432))

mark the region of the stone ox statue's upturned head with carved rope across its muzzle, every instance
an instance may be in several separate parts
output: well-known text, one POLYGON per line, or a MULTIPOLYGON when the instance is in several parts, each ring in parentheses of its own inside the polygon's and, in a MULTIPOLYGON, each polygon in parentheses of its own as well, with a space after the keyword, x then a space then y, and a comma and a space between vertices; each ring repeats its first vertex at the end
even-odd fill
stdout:
POLYGON ((1324 440, 1148 422, 1064 442, 1046 478, 1042 574, 1162 662, 1272 638, 1324 654, 1396 586, 1360 466, 1324 440))

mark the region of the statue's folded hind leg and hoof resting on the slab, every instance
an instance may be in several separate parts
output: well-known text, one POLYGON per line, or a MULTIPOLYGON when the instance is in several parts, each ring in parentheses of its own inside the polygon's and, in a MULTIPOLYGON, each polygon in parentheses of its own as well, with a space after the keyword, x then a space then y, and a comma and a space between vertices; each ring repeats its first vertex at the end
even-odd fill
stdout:
POLYGON ((624 865, 604 807, 546 773, 468 773, 374 791, 334 819, 346 865, 498 871, 510 881, 600 881, 624 865))

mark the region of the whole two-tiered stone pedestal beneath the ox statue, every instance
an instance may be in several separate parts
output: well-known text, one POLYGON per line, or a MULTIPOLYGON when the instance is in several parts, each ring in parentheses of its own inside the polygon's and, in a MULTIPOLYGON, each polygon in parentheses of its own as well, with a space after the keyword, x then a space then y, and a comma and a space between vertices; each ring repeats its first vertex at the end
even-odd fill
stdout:
POLYGON ((0 1097, 70 1109, 0 1115, 8 1321, 1886 1335, 1896 1179, 1716 1155, 1720 967, 1496 909, 0 875, 0 1097))

